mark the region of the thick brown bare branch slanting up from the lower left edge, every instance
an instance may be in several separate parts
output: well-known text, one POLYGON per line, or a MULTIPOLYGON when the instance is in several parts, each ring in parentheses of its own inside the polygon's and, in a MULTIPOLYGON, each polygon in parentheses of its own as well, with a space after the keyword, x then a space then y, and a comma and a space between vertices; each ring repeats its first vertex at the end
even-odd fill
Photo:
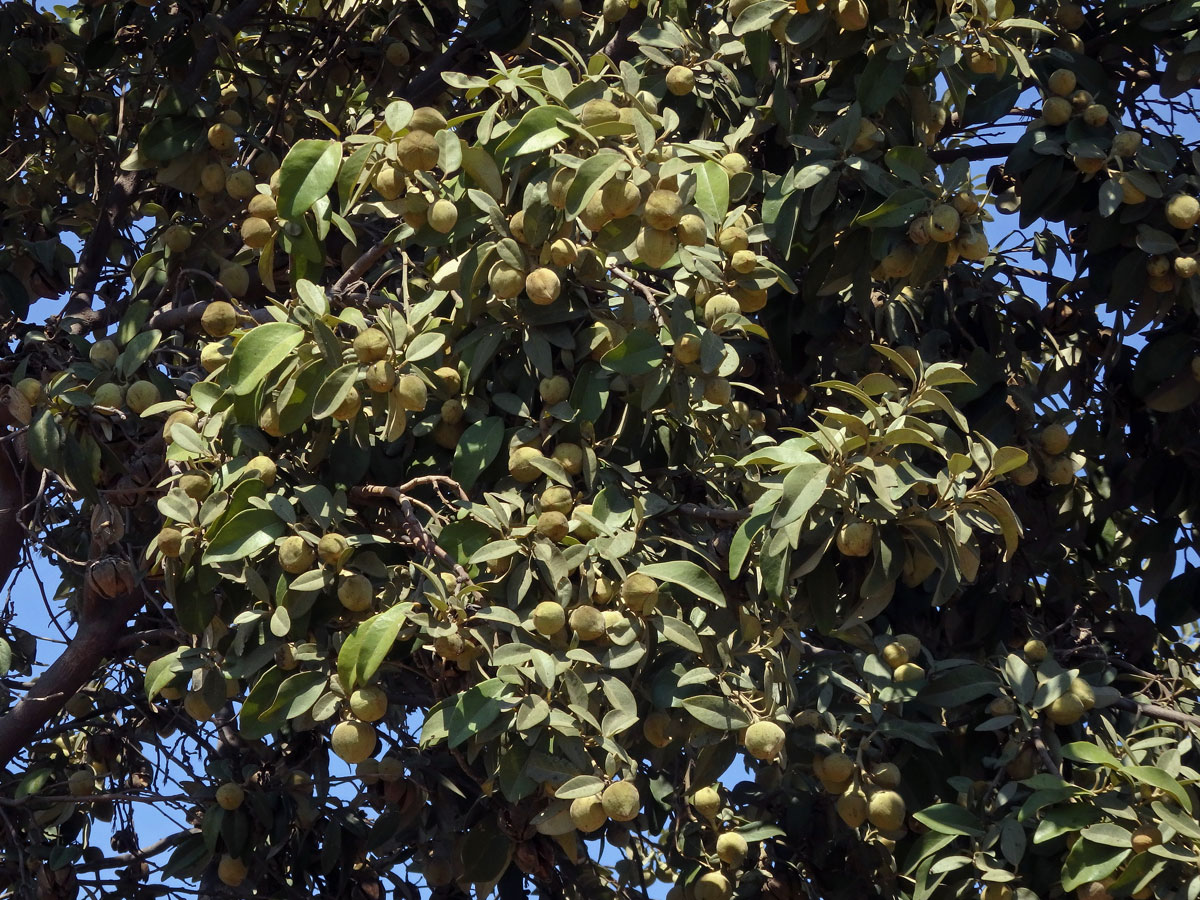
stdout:
POLYGON ((142 606, 142 595, 128 594, 108 601, 103 616, 86 620, 67 648, 41 674, 29 692, 0 716, 0 766, 32 742, 38 731, 78 690, 96 674, 96 668, 113 652, 125 625, 142 606))

